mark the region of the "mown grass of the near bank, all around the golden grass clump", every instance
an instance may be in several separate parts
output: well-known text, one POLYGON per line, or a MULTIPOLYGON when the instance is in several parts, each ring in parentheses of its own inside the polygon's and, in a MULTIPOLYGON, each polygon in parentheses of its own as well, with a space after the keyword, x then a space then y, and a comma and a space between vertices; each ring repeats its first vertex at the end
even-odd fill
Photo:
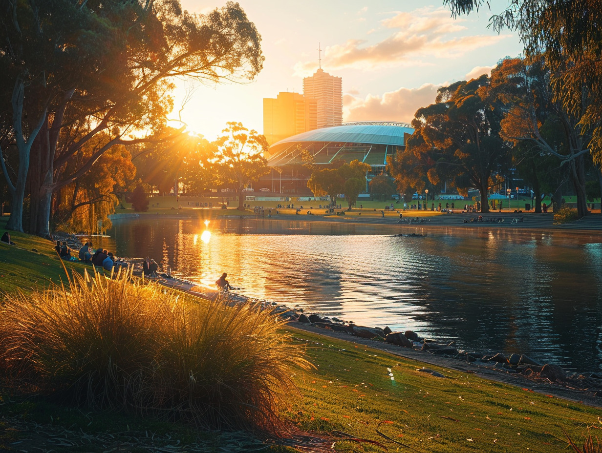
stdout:
MULTIPOLYGON (((0 222, 0 230, 5 220, 0 222)), ((0 242, 2 291, 28 290, 64 280, 50 242, 19 233, 13 235, 13 241, 17 244, 13 247, 0 242)), ((77 271, 84 269, 78 263, 68 265, 77 271)), ((389 451, 406 449, 396 441, 421 452, 550 452, 566 449, 562 428, 580 442, 588 427, 593 434, 602 428, 598 421, 602 410, 597 408, 403 359, 353 342, 305 331, 290 333, 297 344, 307 345, 309 359, 317 368, 294 369, 291 378, 299 393, 289 392, 282 399, 281 416, 300 430, 327 439, 324 445, 334 442, 337 451, 384 451, 380 445, 389 451), (417 371, 423 367, 445 377, 417 371), (358 440, 345 440, 341 433, 358 440)), ((180 445, 204 445, 205 451, 228 445, 230 451, 237 451, 238 441, 229 434, 200 433, 179 424, 72 408, 40 396, 15 399, 6 389, 0 396, 4 403, 0 414, 8 418, 0 436, 0 449, 17 451, 23 443, 13 442, 32 437, 31 431, 62 426, 90 436, 110 433, 116 439, 146 439, 156 433, 157 439, 163 436, 161 445, 174 445, 179 440, 180 445), (16 420, 13 425, 11 418, 16 420), (29 424, 26 426, 31 429, 6 430, 14 428, 17 421, 29 424), (41 427, 35 428, 34 424, 41 427)), ((71 447, 61 448, 73 451, 71 447)), ((88 446, 82 451, 109 449, 88 446)), ((139 451, 148 450, 139 447, 139 451)))

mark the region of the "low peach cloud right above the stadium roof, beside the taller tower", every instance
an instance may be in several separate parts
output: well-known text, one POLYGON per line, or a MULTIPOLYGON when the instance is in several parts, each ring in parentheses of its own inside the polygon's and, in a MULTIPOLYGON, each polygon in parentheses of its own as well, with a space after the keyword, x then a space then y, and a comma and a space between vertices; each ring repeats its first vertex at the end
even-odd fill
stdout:
POLYGON ((415 112, 435 102, 441 85, 424 84, 419 88, 399 88, 382 96, 368 94, 365 98, 351 94, 343 96, 344 120, 400 121, 410 123, 415 112))

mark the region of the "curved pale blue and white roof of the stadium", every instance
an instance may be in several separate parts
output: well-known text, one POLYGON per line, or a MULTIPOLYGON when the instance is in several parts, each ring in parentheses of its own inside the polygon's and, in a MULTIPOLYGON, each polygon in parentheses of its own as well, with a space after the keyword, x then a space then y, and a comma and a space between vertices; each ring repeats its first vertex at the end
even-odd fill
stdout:
POLYGON ((407 123, 356 122, 331 128, 314 129, 285 138, 270 146, 268 165, 301 163, 299 150, 307 149, 316 164, 329 164, 334 159, 355 159, 373 166, 386 164, 386 156, 405 146, 406 137, 414 129, 407 123))

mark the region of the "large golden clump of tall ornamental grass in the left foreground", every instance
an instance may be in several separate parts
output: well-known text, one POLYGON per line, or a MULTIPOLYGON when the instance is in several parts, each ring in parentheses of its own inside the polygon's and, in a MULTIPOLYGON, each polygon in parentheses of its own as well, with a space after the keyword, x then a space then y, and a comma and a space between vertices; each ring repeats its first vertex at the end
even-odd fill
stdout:
POLYGON ((290 366, 311 364, 273 313, 132 283, 129 271, 116 277, 74 275, 68 288, 7 295, 4 384, 206 428, 279 425, 290 366))

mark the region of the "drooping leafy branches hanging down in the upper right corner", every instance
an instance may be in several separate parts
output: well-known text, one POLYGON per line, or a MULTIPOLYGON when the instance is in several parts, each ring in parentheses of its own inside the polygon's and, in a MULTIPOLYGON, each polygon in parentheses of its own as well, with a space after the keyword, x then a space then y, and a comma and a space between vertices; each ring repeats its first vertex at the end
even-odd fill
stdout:
MULTIPOLYGON (((485 1, 444 0, 444 4, 458 15, 478 11, 485 1)), ((577 133, 582 135, 582 144, 573 144, 577 167, 584 165, 582 151, 590 152, 594 163, 602 165, 601 23, 601 0, 511 0, 489 19, 489 26, 497 31, 519 32, 527 63, 543 61, 554 102, 576 119, 577 133)), ((581 179, 583 172, 578 173, 581 179)), ((579 182, 576 193, 579 215, 585 215, 585 183, 579 182)))

